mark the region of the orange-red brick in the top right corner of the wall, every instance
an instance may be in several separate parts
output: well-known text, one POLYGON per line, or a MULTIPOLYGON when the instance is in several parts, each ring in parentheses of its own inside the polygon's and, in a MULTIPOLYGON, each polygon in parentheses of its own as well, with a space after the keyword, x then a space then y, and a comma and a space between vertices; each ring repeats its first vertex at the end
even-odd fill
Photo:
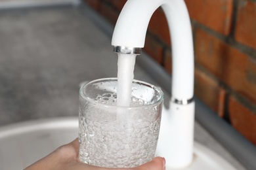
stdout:
POLYGON ((235 39, 256 48, 256 3, 240 0, 236 22, 235 39))

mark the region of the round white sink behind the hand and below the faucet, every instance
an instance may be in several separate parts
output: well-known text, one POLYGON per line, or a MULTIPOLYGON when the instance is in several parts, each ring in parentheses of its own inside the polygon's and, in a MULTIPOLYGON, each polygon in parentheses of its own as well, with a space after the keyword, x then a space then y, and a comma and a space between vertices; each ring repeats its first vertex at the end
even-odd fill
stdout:
MULTIPOLYGON (((77 137, 78 118, 49 118, 0 127, 1 169, 24 169, 77 137)), ((166 167, 167 170, 170 168, 166 167)), ((233 170, 228 161, 194 144, 194 161, 184 169, 233 170)), ((170 169, 171 170, 171 169, 170 169)))

